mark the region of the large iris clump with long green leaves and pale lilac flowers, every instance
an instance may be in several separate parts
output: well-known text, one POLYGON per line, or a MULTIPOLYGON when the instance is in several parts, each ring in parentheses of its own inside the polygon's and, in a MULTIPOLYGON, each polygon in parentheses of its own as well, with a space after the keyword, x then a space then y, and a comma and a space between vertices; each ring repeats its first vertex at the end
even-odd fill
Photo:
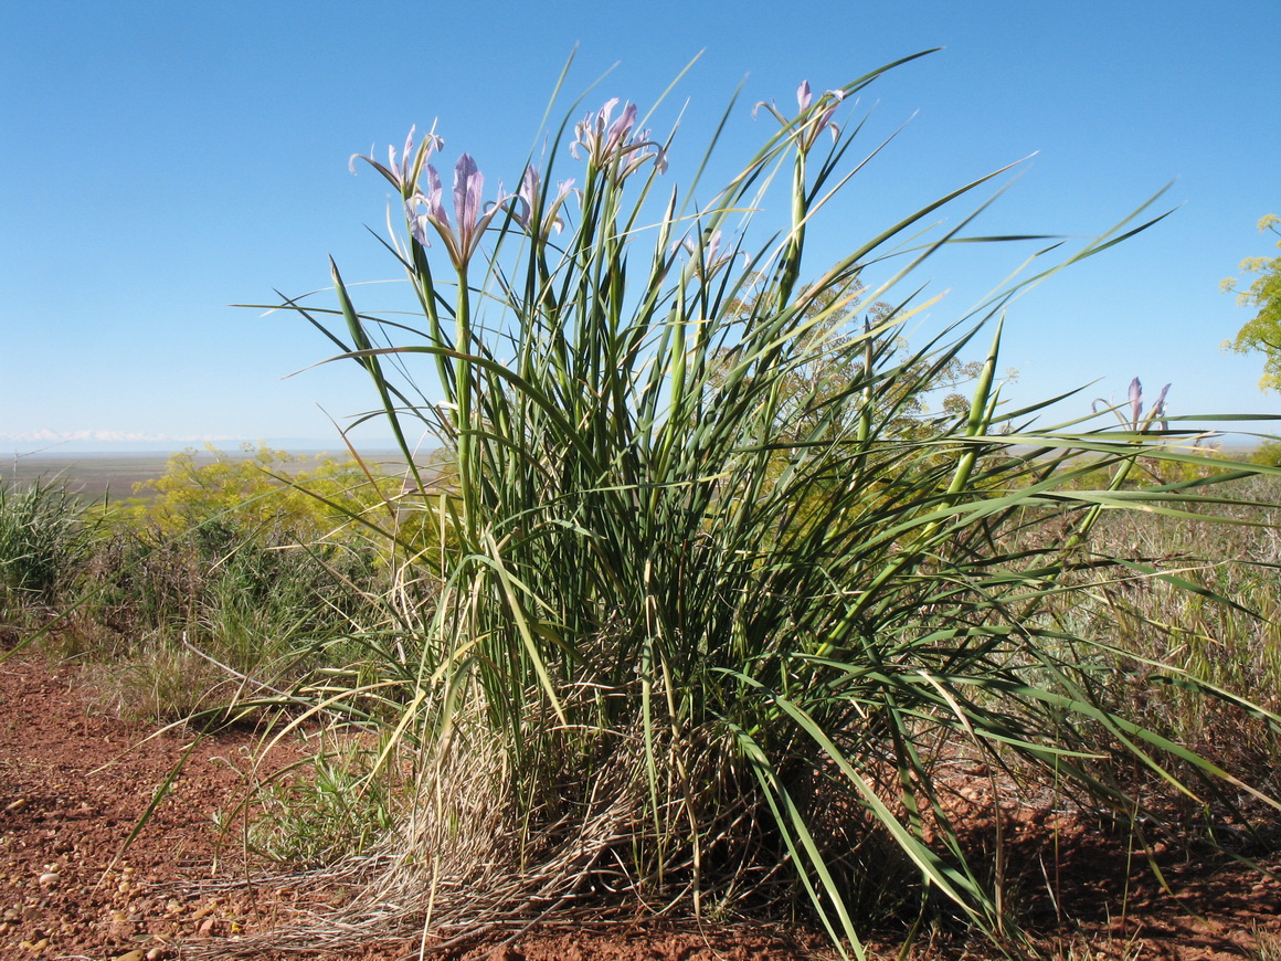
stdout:
MULTIPOLYGON (((767 105, 779 131, 711 193, 666 188, 670 142, 612 100, 573 128, 580 168, 555 188, 569 120, 515 196, 485 202, 462 154, 452 211, 434 135, 369 159, 404 201, 386 243, 421 323, 361 311, 337 268, 333 308, 286 306, 369 373, 414 475, 400 504, 441 536, 428 554, 382 528, 397 583, 438 588, 425 606, 388 589, 377 656, 314 683, 325 711, 379 721, 377 765, 405 750, 416 776, 393 866, 346 930, 448 940, 639 903, 801 914, 862 955, 876 912, 906 899, 1015 938, 999 870, 944 803, 958 744, 1118 815, 1144 810, 1099 774, 1118 756, 1189 796, 1250 791, 1126 718, 1103 696, 1114 638, 1058 616, 1127 570, 1089 550, 1104 510, 1191 513, 1234 474, 1145 484, 1140 457, 1208 461, 1171 446, 1185 434, 1157 410, 1044 428, 1039 407, 1000 402, 1013 296, 1146 224, 906 351, 934 305, 913 272, 977 240, 970 217, 921 229, 991 177, 812 263, 807 234, 879 150, 854 155, 861 126, 840 111, 886 69, 802 85, 794 114, 767 105), (966 361, 980 331, 990 346, 966 361), (966 363, 968 396, 931 414, 966 363), (447 484, 418 474, 423 431, 447 484), (1062 536, 1031 543, 1030 523, 1062 536)), ((1146 677, 1277 720, 1177 665, 1146 677)))

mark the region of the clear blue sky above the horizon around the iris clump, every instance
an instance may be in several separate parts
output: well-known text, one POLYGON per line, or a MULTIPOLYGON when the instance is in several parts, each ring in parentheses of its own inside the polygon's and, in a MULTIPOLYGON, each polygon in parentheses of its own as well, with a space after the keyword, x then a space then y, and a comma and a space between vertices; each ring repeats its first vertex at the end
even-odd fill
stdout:
MULTIPOLYGON (((1021 168, 986 226, 1085 237, 1170 181, 1163 223, 1020 300, 1006 363, 1020 398, 1091 381, 1093 396, 1171 381, 1175 414, 1281 413, 1258 359, 1220 343, 1248 319, 1218 292, 1281 213, 1281 92, 1268 3, 174 4, 10 0, 0 35, 0 446, 36 432, 173 438, 336 437, 371 404, 354 365, 288 314, 231 308, 328 282, 397 277, 387 185, 352 152, 439 118, 445 165, 471 152, 519 181, 578 45, 562 110, 676 90, 693 158, 746 78, 729 145, 770 132, 751 104, 839 86, 934 46, 875 85, 872 136, 912 118, 842 201, 852 241, 1006 163, 1021 168), (323 407, 323 410, 322 410, 323 407)), ((871 142, 871 140, 869 140, 871 142)), ((567 158, 561 160, 562 164, 567 158)), ((673 176, 681 167, 675 164, 673 176)), ((565 167, 561 168, 564 176, 565 167)), ((839 254, 839 231, 825 237, 839 254)), ((1018 251, 926 268, 970 305, 1018 251)), ((816 264, 817 265, 817 264, 816 264)), ((336 446, 336 445, 334 445, 336 446)))

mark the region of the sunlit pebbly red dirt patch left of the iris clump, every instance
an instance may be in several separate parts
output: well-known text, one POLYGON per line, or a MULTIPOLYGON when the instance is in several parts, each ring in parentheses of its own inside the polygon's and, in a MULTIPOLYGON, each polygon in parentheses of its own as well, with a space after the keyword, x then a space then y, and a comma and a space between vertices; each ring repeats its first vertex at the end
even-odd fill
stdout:
POLYGON ((213 816, 242 791, 251 732, 201 739, 95 716, 73 671, 0 665, 0 953, 4 957, 177 957, 197 935, 270 923, 252 889, 201 882, 243 869, 213 816), (154 819, 120 853, 156 789, 187 755, 154 819), (131 951, 141 955, 131 956, 131 951))

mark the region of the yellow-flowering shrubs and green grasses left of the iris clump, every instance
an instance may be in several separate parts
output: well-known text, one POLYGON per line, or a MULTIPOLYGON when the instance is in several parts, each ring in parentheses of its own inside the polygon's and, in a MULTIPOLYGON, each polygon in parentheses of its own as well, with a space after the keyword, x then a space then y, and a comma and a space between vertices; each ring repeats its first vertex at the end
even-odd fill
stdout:
POLYGON ((142 496, 111 505, 67 483, 0 487, 10 629, 94 662, 100 702, 126 716, 172 721, 287 692, 364 629, 368 597, 389 583, 378 523, 392 518, 410 546, 423 537, 389 500, 401 481, 359 461, 290 473, 283 451, 210 455, 174 455, 142 496))

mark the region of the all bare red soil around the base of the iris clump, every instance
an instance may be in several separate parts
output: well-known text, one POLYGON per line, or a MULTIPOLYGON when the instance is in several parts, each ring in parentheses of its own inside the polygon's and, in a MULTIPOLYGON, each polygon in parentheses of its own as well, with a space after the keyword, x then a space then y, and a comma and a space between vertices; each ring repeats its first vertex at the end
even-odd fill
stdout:
MULTIPOLYGON (((122 855, 154 792, 192 742, 188 732, 152 732, 95 715, 70 668, 38 659, 0 664, 0 958, 143 961, 228 953, 236 940, 319 910, 341 892, 300 893, 246 878, 234 842, 219 844, 213 817, 243 797, 250 732, 222 733, 196 744, 155 816, 122 855), (222 947, 219 947, 222 946, 222 947), (210 948, 213 951, 210 952, 210 948)), ((1015 820, 1011 870, 1027 892, 1030 926, 1062 919, 1057 947, 1072 957, 1281 957, 1281 883, 1234 862, 1163 865, 1175 891, 1164 894, 1125 846, 1091 830, 1061 825, 1059 857, 1043 815, 1015 820), (1041 866, 1047 865, 1043 871, 1041 866), (1054 865, 1058 865, 1057 867, 1054 865), (1127 865, 1132 871, 1127 875, 1127 865), (1127 880, 1129 876, 1129 880, 1127 880), (1045 896, 1057 889, 1058 908, 1045 896), (1122 910, 1123 908, 1123 910, 1122 910), (1081 938, 1090 940, 1081 949, 1081 938), (1275 953, 1257 953, 1257 938, 1275 953), (1275 942, 1272 939, 1275 938, 1275 942)), ((1273 869, 1281 858, 1272 857, 1273 869)), ((418 956, 415 946, 370 947, 360 957, 418 956)), ((895 946, 883 946, 889 957, 895 946)), ((981 957, 963 940, 935 940, 916 958, 981 957)), ((489 939, 468 958, 494 961, 712 961, 830 956, 824 940, 766 928, 620 929, 561 925, 512 943, 489 939)), ((260 955, 272 957, 270 952, 260 955)), ((316 951, 291 957, 352 957, 316 951)))

